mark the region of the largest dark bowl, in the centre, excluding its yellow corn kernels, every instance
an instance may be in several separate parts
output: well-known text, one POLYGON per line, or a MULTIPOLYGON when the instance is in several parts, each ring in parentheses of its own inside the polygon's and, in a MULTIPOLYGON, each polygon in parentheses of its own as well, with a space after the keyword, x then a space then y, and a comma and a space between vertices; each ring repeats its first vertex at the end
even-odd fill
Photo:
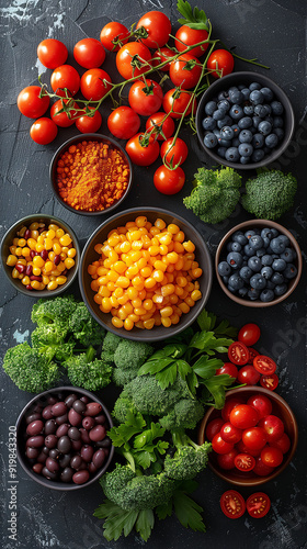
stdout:
POLYGON ((168 210, 143 206, 125 210, 124 212, 117 213, 96 228, 96 231, 89 238, 82 251, 79 283, 87 307, 89 309, 92 316, 104 328, 127 339, 134 339, 138 341, 158 341, 164 339, 166 337, 171 337, 179 334, 195 321, 208 299, 212 287, 212 276, 213 269, 207 246, 201 234, 193 227, 193 225, 191 225, 191 223, 185 221, 183 217, 180 217, 175 213, 172 213, 168 210), (175 223, 177 225, 179 225, 179 227, 185 234, 185 239, 191 239, 195 244, 195 260, 198 261, 200 267, 203 269, 203 274, 197 279, 200 282, 200 289, 202 291, 202 298, 195 302, 195 305, 191 307, 189 313, 181 316, 178 324, 173 324, 169 328, 166 328, 164 326, 154 326, 152 329, 139 329, 134 326, 129 332, 124 327, 115 328, 111 322, 112 315, 110 313, 101 312, 99 305, 93 300, 95 292, 91 289, 92 278, 88 273, 88 266, 93 261, 96 261, 100 257, 94 250, 94 246, 106 240, 107 234, 111 229, 123 226, 127 222, 134 221, 138 215, 145 215, 147 220, 152 224, 155 223, 157 217, 160 217, 167 223, 167 225, 170 223, 175 223))

